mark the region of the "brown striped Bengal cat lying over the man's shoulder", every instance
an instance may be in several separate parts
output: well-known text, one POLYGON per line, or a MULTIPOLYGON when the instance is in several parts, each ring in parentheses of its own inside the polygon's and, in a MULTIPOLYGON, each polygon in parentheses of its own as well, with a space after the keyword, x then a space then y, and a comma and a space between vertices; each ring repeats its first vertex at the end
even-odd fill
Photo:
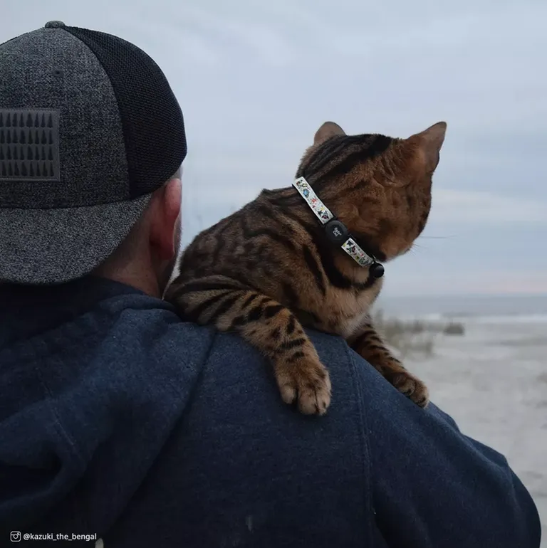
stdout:
MULTIPOLYGON (((365 256, 391 260, 424 229, 446 128, 439 122, 395 139, 345 135, 325 122, 296 172, 300 189, 311 187, 365 256)), ((382 287, 381 265, 360 265, 332 243, 304 194, 296 186, 263 190, 199 233, 165 298, 187 320, 239 332, 271 360, 283 401, 296 401, 303 413, 322 415, 331 395, 304 326, 345 337, 395 388, 426 406, 427 387, 386 349, 368 314, 382 287)))

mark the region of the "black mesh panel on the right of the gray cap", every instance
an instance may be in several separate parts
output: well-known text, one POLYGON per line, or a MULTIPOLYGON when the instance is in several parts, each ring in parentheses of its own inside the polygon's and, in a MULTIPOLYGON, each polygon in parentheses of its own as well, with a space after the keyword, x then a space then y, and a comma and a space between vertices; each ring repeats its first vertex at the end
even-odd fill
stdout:
POLYGON ((177 171, 186 156, 184 120, 160 67, 122 38, 65 27, 85 43, 113 85, 122 119, 131 196, 149 194, 177 171))

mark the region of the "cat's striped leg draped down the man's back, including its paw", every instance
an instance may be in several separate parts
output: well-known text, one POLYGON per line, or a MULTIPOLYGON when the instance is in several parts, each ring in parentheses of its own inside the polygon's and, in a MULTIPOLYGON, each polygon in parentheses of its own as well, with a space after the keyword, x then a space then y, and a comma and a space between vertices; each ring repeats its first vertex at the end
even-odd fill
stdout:
POLYGON ((302 413, 325 413, 330 404, 328 371, 288 308, 224 276, 182 284, 175 280, 165 298, 188 320, 239 332, 270 359, 283 401, 296 401, 302 413))

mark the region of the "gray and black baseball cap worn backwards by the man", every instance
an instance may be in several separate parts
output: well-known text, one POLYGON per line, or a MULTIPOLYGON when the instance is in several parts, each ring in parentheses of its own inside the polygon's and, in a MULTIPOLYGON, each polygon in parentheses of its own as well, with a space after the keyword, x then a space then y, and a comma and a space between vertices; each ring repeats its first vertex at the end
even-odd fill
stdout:
POLYGON ((63 283, 123 241, 187 145, 162 70, 61 21, 0 45, 0 280, 63 283))

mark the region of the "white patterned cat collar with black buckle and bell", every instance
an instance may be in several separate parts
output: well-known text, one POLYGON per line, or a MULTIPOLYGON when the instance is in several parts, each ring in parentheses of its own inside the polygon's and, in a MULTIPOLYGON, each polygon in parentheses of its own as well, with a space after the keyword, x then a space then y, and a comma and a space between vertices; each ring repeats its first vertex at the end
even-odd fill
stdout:
POLYGON ((348 253, 355 263, 363 267, 370 267, 370 274, 374 278, 381 278, 384 275, 384 267, 378 263, 377 260, 365 253, 362 248, 355 241, 353 236, 348 231, 345 224, 338 220, 335 215, 328 209, 325 204, 318 198, 317 194, 313 191, 310 184, 304 177, 298 177, 293 182, 293 186, 303 199, 308 202, 308 206, 311 207, 311 211, 316 214, 317 218, 325 228, 325 233, 328 240, 340 246, 345 253, 348 253))

